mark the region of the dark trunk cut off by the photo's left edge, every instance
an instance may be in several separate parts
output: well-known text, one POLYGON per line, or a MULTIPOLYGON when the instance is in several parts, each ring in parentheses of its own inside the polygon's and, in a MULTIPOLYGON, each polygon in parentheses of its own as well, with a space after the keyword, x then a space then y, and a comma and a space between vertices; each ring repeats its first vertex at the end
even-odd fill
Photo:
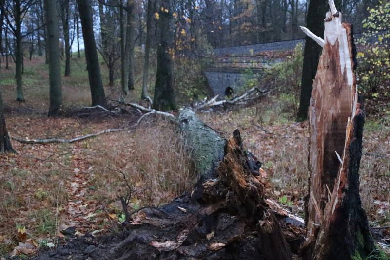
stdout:
MULTIPOLYGON (((2 49, 2 29, 5 17, 5 8, 4 8, 4 0, 0 0, 0 53, 2 49)), ((1 70, 1 59, 0 59, 0 70, 1 70)), ((5 124, 4 110, 3 110, 3 100, 1 97, 1 89, 0 89, 0 152, 14 152, 15 150, 12 148, 11 140, 8 136, 7 126, 5 124)))

